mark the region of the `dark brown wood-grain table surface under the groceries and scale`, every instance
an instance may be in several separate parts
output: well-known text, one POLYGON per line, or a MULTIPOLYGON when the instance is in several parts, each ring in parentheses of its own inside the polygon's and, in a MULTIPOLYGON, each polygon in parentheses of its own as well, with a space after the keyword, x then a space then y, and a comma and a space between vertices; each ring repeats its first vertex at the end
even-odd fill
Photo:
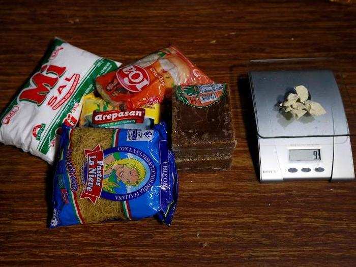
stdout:
MULTIPOLYGON (((356 6, 322 0, 0 4, 1 107, 55 36, 123 63, 174 44, 215 81, 230 84, 238 139, 230 171, 180 173, 170 227, 145 219, 48 229, 52 168, 0 145, 0 264, 356 264, 356 183, 259 184, 243 79, 250 60, 326 58, 356 133, 356 6)), ((356 138, 351 141, 355 155, 356 138)))

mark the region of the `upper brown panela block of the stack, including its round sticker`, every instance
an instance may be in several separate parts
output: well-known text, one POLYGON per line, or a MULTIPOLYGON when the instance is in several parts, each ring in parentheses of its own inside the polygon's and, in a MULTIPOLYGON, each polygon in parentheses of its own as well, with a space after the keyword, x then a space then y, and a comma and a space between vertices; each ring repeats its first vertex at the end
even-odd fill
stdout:
POLYGON ((231 113, 226 84, 177 86, 172 103, 175 155, 230 155, 236 145, 231 113))

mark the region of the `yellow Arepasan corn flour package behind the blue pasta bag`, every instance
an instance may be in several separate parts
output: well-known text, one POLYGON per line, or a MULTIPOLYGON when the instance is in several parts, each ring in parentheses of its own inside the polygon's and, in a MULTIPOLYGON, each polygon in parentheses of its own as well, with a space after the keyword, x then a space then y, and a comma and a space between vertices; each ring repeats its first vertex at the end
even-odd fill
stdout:
POLYGON ((160 104, 123 111, 97 97, 94 92, 84 96, 82 101, 79 126, 145 130, 160 122, 160 104))

